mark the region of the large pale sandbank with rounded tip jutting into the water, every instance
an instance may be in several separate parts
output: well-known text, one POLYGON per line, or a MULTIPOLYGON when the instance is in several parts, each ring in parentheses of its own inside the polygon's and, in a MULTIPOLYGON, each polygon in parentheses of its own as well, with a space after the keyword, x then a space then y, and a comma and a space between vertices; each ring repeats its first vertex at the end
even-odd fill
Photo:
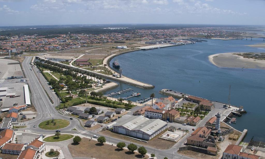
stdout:
POLYGON ((236 53, 241 52, 214 54, 208 56, 208 58, 212 64, 221 68, 265 69, 265 60, 243 58, 242 56, 234 55, 236 53))

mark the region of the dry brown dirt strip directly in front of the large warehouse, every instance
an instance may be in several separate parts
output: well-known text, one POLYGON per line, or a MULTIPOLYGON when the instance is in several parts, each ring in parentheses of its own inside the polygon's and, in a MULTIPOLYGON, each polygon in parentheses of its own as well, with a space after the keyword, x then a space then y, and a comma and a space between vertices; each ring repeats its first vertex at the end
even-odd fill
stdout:
POLYGON ((135 139, 132 139, 132 138, 129 138, 127 136, 123 136, 121 134, 113 133, 112 131, 109 131, 109 130, 103 130, 103 131, 101 131, 99 133, 107 135, 107 136, 110 135, 111 137, 114 137, 114 138, 123 139, 123 140, 126 140, 126 141, 130 141, 130 142, 146 145, 146 146, 149 146, 149 147, 156 146, 157 149, 163 150, 163 149, 169 149, 169 148, 173 147, 173 145, 176 144, 175 142, 158 139, 158 137, 160 135, 162 135, 164 132, 165 131, 163 131, 162 133, 156 135, 153 139, 147 141, 147 143, 141 142, 141 141, 138 141, 138 140, 135 140, 135 139))

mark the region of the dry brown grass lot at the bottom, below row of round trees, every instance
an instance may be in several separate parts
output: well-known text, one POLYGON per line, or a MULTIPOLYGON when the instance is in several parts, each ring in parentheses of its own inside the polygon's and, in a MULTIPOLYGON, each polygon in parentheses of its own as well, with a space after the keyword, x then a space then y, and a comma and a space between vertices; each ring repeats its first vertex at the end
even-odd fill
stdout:
MULTIPOLYGON (((78 145, 69 144, 68 148, 73 157, 92 157, 92 158, 142 158, 139 153, 131 153, 128 150, 120 150, 115 146, 100 144, 94 140, 82 138, 78 145), (87 151, 89 150, 89 151, 87 151), (99 153, 100 152, 100 153, 99 153)), ((145 155, 144 158, 149 158, 145 155)))

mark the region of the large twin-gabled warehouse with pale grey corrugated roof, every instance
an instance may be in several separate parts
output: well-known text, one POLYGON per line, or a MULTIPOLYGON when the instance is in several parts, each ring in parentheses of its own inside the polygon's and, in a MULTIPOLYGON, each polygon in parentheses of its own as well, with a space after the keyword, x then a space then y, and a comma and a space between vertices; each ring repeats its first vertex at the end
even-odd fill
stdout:
POLYGON ((167 123, 160 119, 148 119, 138 116, 113 126, 113 131, 136 138, 150 140, 167 128, 167 123))

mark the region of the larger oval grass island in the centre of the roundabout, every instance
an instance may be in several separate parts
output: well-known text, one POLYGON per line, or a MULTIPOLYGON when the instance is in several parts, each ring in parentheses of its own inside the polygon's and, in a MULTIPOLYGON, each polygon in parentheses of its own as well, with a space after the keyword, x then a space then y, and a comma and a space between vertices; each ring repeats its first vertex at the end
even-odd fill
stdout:
POLYGON ((54 122, 56 123, 55 125, 51 122, 52 122, 52 119, 43 121, 39 124, 39 127, 45 130, 56 130, 58 129, 58 126, 59 126, 59 129, 62 129, 64 127, 67 127, 70 124, 68 120, 64 120, 64 119, 54 119, 54 122), (47 121, 50 121, 49 125, 47 125, 46 123, 47 121))

